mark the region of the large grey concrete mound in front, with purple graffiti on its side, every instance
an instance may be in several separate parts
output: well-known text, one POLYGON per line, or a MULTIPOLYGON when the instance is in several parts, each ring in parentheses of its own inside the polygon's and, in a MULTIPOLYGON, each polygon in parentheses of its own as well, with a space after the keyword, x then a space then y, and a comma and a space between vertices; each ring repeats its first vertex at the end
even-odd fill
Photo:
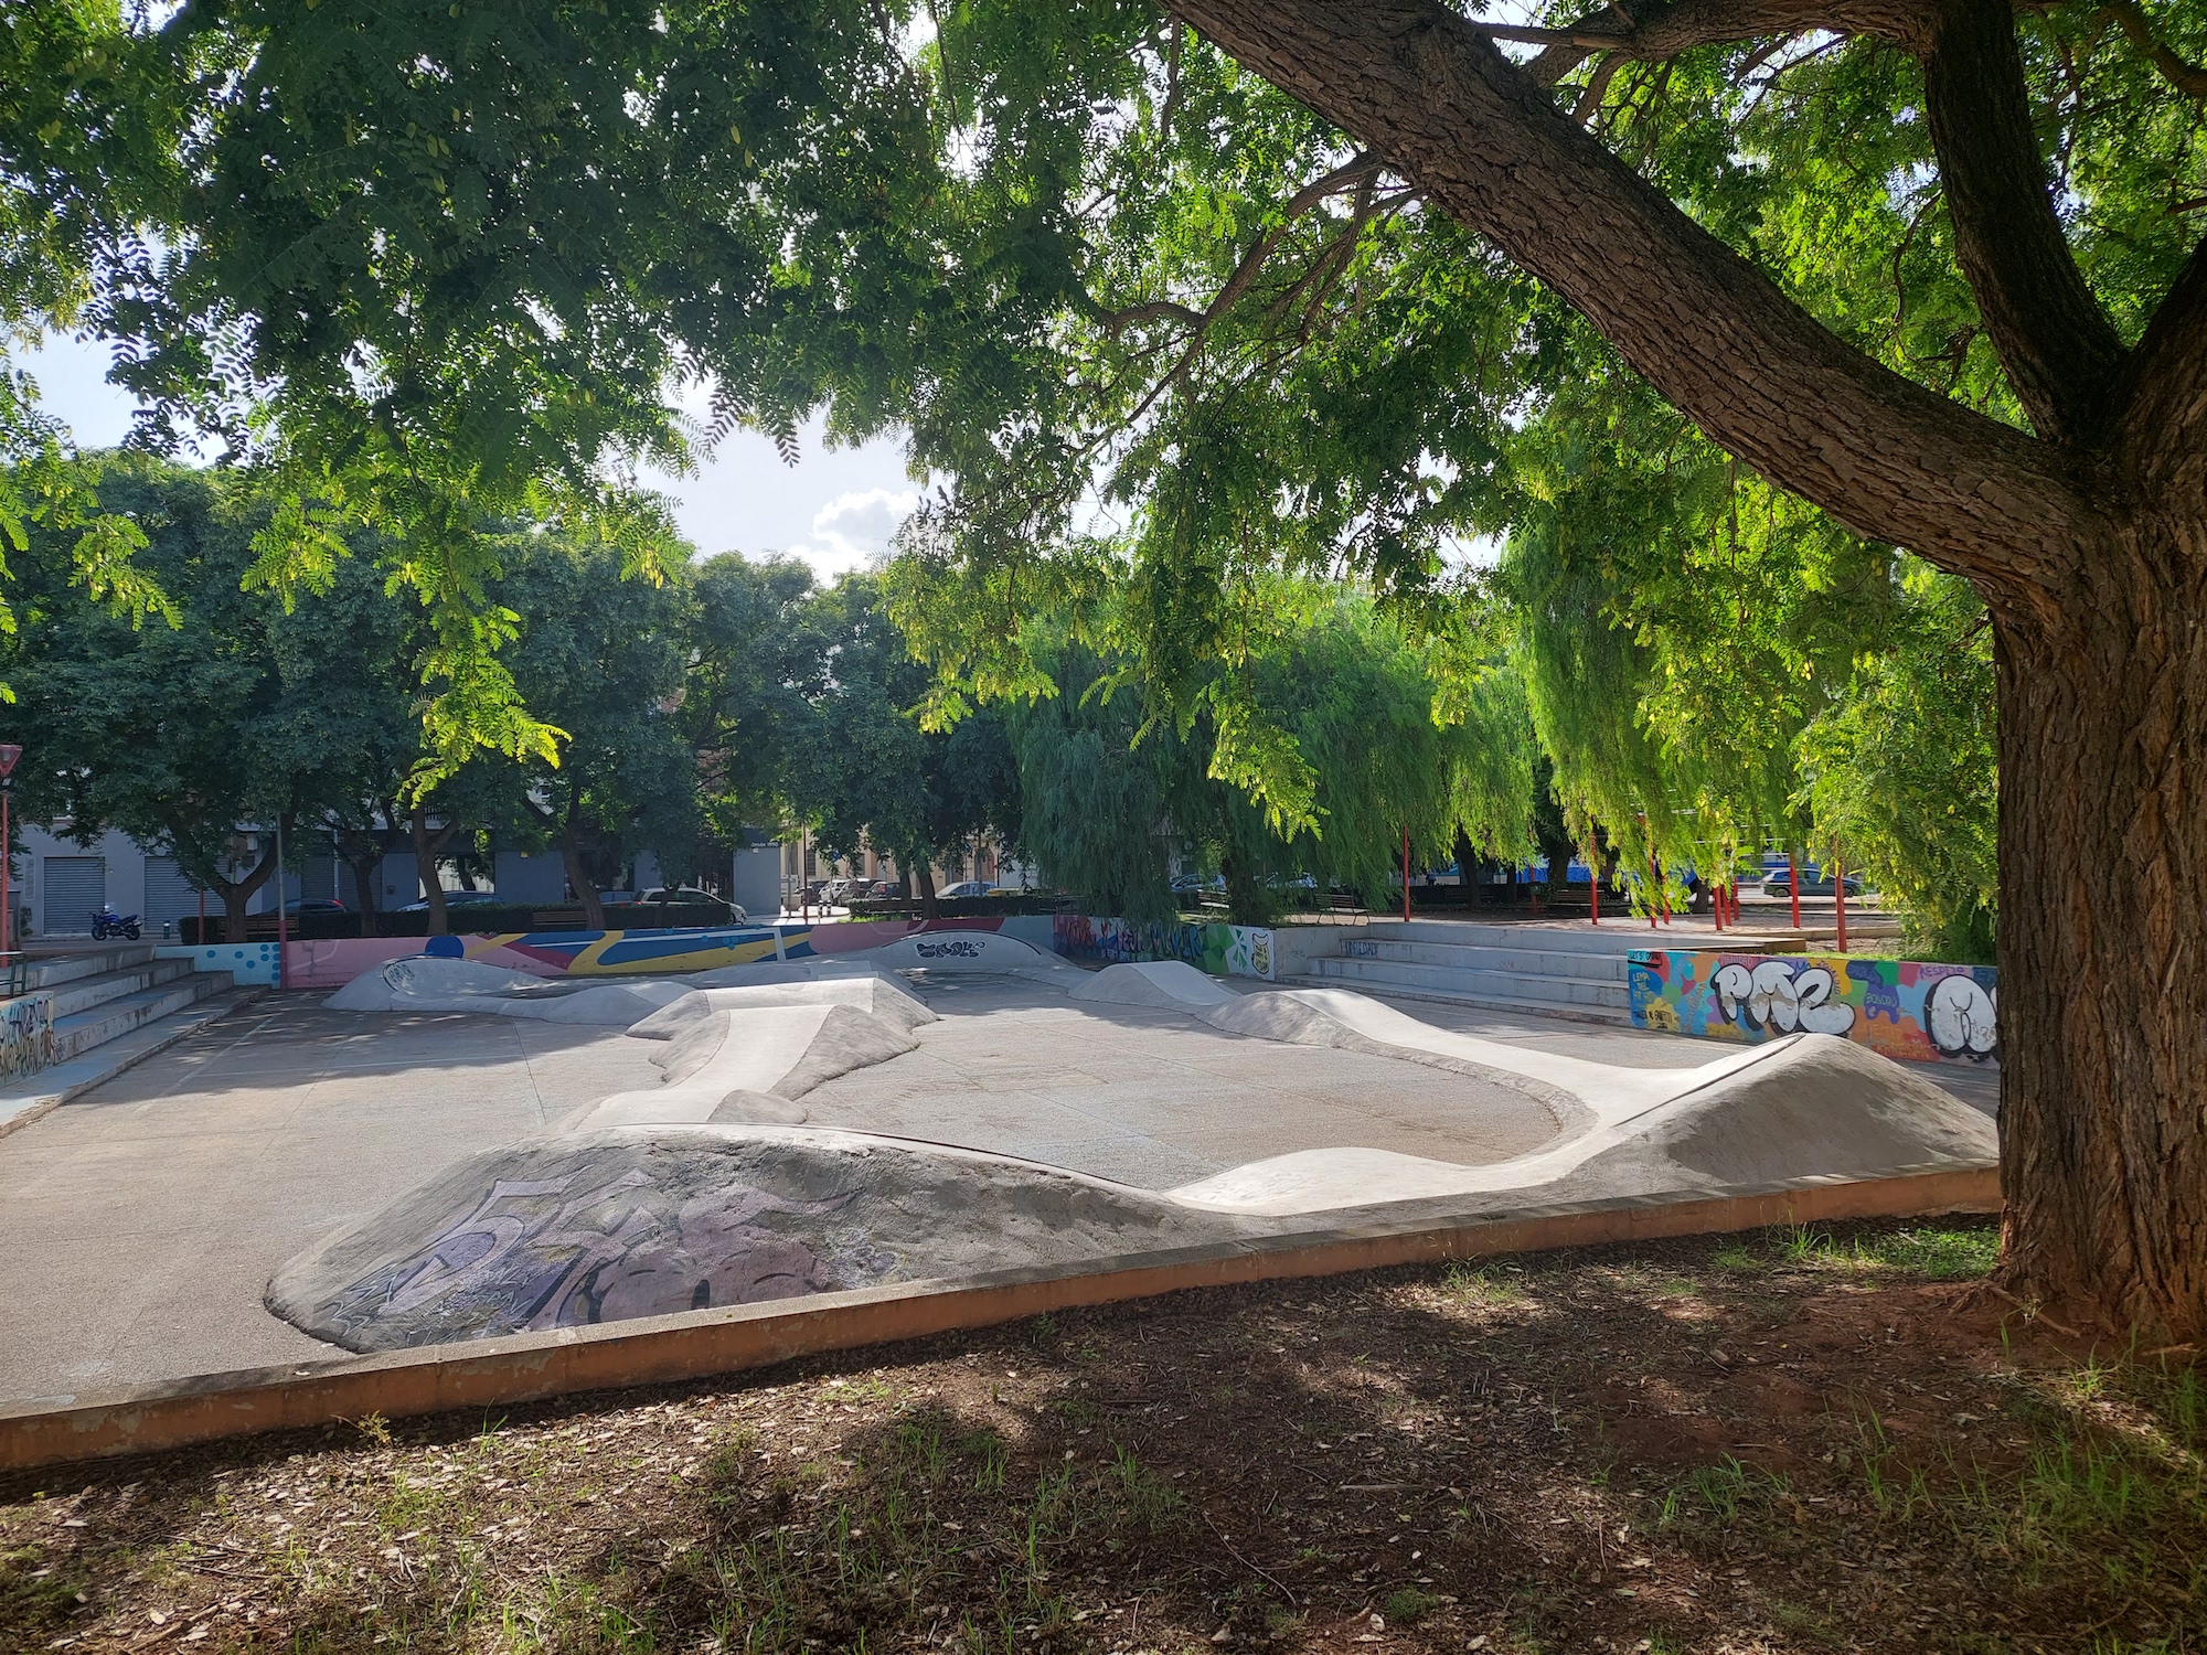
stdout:
POLYGON ((806 1128, 647 1128, 470 1156, 287 1262, 267 1306, 346 1350, 402 1350, 1240 1234, 1009 1156, 806 1128))

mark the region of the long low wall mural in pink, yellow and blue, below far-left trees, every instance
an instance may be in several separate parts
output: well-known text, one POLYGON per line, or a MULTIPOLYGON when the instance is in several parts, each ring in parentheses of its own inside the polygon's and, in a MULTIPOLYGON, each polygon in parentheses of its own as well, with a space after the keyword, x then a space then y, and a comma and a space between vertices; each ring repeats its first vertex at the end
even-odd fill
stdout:
MULTIPOLYGON (((605 978, 653 971, 711 971, 759 960, 803 960, 814 953, 878 949, 927 931, 995 931, 1000 918, 973 920, 843 920, 834 925, 731 925, 702 931, 508 931, 501 936, 320 938, 291 942, 285 982, 291 989, 338 989, 384 960, 433 953, 450 960, 527 971, 539 978, 605 978)), ((269 944, 274 949, 274 944, 269 944)), ((207 969, 207 967, 203 967, 207 969)), ((274 975, 271 975, 274 980, 274 975)))

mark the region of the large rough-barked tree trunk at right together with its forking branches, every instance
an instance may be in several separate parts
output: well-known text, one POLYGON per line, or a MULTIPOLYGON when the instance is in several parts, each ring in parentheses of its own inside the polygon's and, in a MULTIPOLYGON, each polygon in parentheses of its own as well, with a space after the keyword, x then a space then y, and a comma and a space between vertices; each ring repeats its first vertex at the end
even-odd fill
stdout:
MULTIPOLYGON (((2130 247, 2092 212, 2064 218, 2057 183, 2108 181, 2061 139, 2112 146, 2088 117, 2033 108, 2019 31, 2053 57, 2094 24, 2039 26, 2006 0, 1684 0, 1536 31, 1419 0, 1176 9, 1565 296, 1710 439, 1982 594, 2006 1269, 2125 1322, 2207 1331, 2207 254, 2185 247, 2174 192, 2108 203, 2143 232, 2130 247), (1521 66, 1496 35, 1545 51, 1521 66), (1812 35, 1865 42, 1887 66, 1887 119, 1918 113, 1929 132, 1927 183, 2006 393, 1991 410, 1827 327, 1587 126, 1593 77, 1699 53, 1746 79, 1812 35), (1582 64, 1565 108, 1549 86, 1582 64)), ((2136 90, 2156 71, 2192 106, 2203 73, 2150 13, 2123 18, 2150 46, 2094 77, 2136 99, 2134 119, 2167 102, 2136 90)), ((2196 183, 2196 150, 2178 139, 2176 159, 2167 181, 2196 183)))

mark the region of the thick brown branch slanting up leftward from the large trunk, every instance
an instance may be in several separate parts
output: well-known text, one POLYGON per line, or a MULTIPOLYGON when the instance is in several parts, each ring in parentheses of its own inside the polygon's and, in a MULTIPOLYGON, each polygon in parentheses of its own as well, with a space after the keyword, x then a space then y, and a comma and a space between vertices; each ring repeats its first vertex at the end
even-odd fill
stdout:
POLYGON ((2057 455, 1878 366, 1430 0, 1174 0, 1576 305, 1710 439, 2059 622, 2101 525, 2057 455))

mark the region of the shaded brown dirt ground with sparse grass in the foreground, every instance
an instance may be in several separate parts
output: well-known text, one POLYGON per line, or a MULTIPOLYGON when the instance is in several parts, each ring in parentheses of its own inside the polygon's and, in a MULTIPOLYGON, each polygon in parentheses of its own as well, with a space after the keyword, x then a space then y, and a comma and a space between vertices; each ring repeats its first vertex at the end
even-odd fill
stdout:
POLYGON ((0 1487, 0 1648, 2207 1651, 2207 1399, 1984 1227, 1399 1269, 0 1487))

